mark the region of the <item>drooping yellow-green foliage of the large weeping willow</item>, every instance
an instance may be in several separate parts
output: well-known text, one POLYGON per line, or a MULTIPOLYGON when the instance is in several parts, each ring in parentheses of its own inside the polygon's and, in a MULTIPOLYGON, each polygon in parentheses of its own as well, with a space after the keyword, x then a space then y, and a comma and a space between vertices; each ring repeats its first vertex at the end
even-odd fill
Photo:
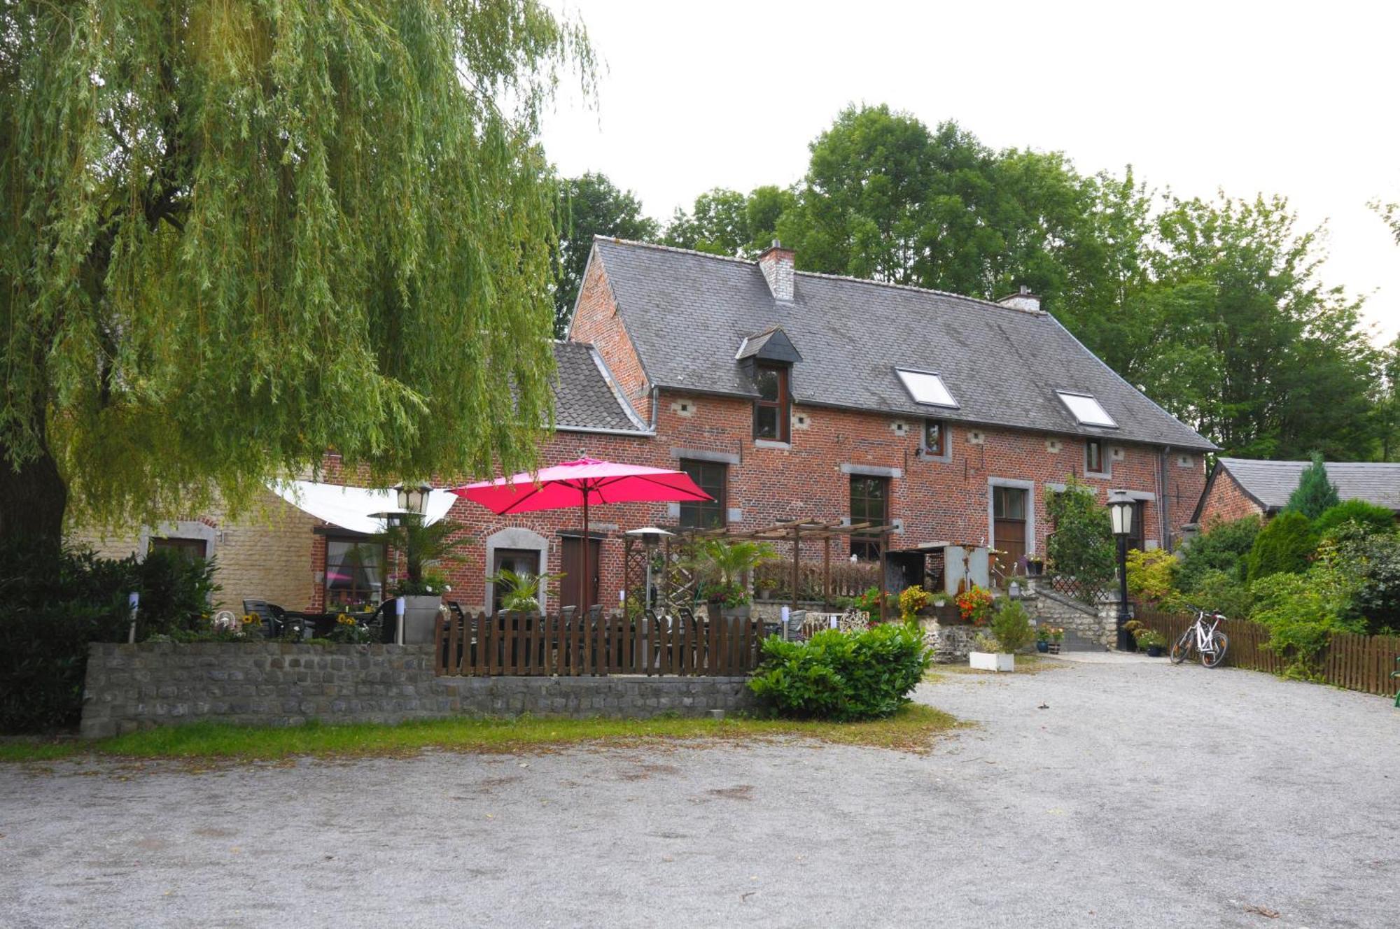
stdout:
POLYGON ((326 449, 528 467, 582 27, 521 0, 0 4, 0 541, 326 449))

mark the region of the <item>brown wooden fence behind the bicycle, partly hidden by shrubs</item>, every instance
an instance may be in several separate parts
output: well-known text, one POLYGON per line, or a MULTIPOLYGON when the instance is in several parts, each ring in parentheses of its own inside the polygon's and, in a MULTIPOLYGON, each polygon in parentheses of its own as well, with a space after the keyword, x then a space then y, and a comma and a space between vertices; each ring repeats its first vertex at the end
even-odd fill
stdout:
MULTIPOLYGON (((1138 610, 1138 620, 1148 628, 1166 637, 1168 645, 1196 621, 1193 616, 1138 610)), ((1288 662, 1273 649, 1264 648, 1268 641, 1268 627, 1260 623, 1225 620, 1221 630, 1229 637, 1229 651, 1225 665, 1246 667, 1256 672, 1278 674, 1288 662)), ((1337 632, 1320 656, 1317 665, 1323 680, 1347 690, 1365 694, 1393 695, 1397 681, 1390 673, 1400 670, 1400 635, 1351 635, 1337 632)))

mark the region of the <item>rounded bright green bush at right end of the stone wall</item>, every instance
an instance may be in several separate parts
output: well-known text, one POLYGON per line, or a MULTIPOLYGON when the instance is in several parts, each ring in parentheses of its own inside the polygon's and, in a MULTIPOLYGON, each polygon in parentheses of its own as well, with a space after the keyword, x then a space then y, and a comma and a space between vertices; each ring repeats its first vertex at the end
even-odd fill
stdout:
POLYGON ((879 719, 909 702, 932 655, 913 623, 862 632, 826 630, 806 642, 763 641, 749 687, 783 716, 879 719))

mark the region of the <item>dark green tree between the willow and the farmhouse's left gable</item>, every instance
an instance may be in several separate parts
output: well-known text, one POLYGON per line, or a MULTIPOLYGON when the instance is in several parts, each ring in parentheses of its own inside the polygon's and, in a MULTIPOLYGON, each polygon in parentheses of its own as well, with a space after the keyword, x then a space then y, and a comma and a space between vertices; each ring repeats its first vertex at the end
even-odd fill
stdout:
POLYGON ((641 213, 631 190, 619 190, 606 175, 584 173, 560 183, 559 280, 554 283, 554 337, 563 339, 584 283, 595 235, 654 242, 659 224, 641 213))

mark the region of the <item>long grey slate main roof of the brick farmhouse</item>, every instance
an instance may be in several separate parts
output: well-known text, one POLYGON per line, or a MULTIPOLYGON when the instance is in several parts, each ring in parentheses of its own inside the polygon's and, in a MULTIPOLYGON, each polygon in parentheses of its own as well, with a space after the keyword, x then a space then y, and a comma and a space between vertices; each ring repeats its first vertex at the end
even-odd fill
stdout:
POLYGON ((798 403, 1211 451, 1099 361, 1049 313, 970 297, 798 271, 774 301, 755 262, 596 238, 623 326, 652 383, 753 396, 735 361, 774 326, 801 353, 798 403), (959 409, 914 403, 895 368, 942 375, 959 409), (1119 428, 1079 425, 1056 390, 1092 393, 1119 428))

